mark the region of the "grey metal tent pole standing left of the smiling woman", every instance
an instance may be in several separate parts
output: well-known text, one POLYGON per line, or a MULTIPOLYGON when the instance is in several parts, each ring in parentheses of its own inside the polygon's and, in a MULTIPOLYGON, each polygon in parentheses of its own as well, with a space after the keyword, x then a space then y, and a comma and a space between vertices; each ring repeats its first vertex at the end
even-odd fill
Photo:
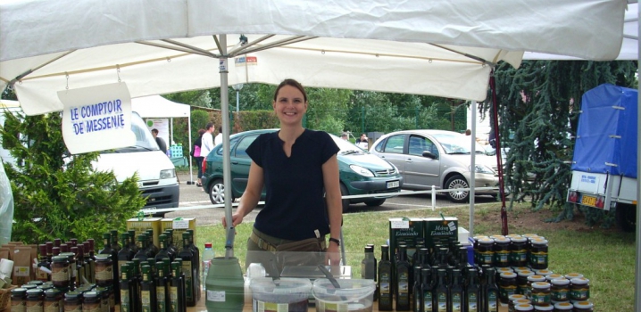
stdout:
MULTIPOLYGON (((220 72, 221 72, 221 119, 222 119, 222 150, 229 151, 229 81, 227 75, 227 35, 221 35, 221 59, 220 59, 220 72)), ((225 185, 225 219, 227 220, 227 237, 225 257, 234 257, 234 225, 231 222, 231 172, 230 172, 231 158, 229 152, 222 153, 222 177, 225 185), (231 242, 229 242, 231 241, 231 242)))

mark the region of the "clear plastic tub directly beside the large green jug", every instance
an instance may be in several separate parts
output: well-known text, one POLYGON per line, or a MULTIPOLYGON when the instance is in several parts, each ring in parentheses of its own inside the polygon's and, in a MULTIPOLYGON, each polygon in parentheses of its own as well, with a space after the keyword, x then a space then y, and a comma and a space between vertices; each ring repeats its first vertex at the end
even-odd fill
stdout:
POLYGON ((254 277, 249 282, 254 311, 278 311, 287 304, 288 312, 307 312, 312 282, 307 278, 281 278, 278 286, 271 277, 254 277))

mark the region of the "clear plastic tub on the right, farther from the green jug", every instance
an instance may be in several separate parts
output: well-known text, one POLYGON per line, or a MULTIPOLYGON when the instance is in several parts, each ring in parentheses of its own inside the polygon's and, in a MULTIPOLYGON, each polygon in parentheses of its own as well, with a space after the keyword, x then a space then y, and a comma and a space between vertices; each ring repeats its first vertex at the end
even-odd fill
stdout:
POLYGON ((329 279, 314 281, 312 294, 316 299, 317 312, 350 311, 371 312, 376 285, 373 280, 337 280, 335 288, 329 279))

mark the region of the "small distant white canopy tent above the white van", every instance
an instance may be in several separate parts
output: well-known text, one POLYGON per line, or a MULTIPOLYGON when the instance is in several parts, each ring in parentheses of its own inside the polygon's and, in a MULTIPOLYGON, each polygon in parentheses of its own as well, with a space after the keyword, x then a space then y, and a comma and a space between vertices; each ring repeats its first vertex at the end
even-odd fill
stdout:
MULTIPOLYGON (((187 118, 187 137, 191 150, 191 107, 187 104, 175 103, 160 95, 149 95, 131 99, 131 111, 136 111, 142 118, 171 119, 171 142, 173 142, 173 119, 187 118)), ((189 182, 194 181, 192 175, 191 157, 189 157, 189 182)))

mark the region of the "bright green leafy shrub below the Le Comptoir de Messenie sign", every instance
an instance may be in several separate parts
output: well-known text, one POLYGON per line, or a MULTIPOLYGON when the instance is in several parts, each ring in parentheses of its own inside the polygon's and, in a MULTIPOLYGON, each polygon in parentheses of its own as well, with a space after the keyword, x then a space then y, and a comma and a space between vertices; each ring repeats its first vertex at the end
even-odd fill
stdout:
POLYGON ((112 172, 92 168, 97 152, 69 154, 60 113, 4 116, 0 135, 17 161, 4 163, 14 200, 13 241, 99 239, 109 229, 124 230, 145 205, 137 177, 118 184, 112 172))

